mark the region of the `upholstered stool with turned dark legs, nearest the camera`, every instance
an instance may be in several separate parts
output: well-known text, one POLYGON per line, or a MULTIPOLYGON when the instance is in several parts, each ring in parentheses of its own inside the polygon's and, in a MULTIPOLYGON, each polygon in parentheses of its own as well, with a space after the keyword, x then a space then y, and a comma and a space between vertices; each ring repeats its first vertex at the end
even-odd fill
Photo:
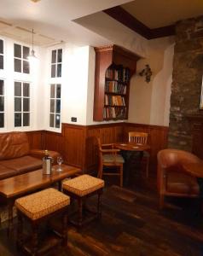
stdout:
MULTIPOLYGON (((70 198, 56 189, 44 189, 32 195, 26 195, 17 199, 14 203, 17 208, 18 229, 17 246, 26 253, 37 255, 47 252, 50 247, 67 244, 67 206, 70 204, 70 198), (39 241, 38 228, 42 222, 47 222, 56 215, 62 215, 62 232, 60 239, 56 233, 46 237, 47 243, 39 241), (32 225, 32 239, 24 243, 23 239, 23 218, 27 219, 32 225), (49 240, 50 239, 50 240, 49 240)), ((59 235, 59 234, 58 234, 59 235)))

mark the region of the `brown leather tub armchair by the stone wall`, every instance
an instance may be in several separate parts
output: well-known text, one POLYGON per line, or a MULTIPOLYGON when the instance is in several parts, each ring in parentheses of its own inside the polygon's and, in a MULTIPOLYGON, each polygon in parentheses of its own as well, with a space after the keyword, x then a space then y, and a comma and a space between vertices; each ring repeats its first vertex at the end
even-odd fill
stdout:
POLYGON ((159 208, 165 206, 165 195, 179 197, 197 197, 200 188, 196 177, 183 169, 184 163, 197 163, 201 160, 187 151, 167 148, 158 155, 157 185, 159 208))

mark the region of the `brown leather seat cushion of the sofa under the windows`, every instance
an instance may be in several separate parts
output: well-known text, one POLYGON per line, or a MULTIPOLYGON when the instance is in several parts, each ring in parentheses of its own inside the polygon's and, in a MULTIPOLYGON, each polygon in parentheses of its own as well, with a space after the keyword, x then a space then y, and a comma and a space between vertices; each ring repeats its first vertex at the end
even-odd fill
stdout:
POLYGON ((38 158, 26 155, 12 160, 3 160, 1 161, 1 165, 10 169, 14 169, 15 175, 18 175, 20 173, 35 171, 42 168, 43 161, 38 158))

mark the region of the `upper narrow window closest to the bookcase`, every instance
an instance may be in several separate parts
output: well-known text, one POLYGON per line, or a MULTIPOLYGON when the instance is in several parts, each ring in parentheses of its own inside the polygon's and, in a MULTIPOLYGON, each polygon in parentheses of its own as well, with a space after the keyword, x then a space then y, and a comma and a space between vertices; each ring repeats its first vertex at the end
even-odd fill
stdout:
POLYGON ((51 51, 51 78, 61 78, 62 49, 51 51))

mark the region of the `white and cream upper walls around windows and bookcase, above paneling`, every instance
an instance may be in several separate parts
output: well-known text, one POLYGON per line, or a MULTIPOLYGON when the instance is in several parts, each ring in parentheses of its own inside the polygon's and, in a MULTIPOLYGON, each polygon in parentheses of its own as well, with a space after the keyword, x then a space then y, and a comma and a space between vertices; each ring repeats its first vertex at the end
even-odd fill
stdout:
MULTIPOLYGON (((2 38, 2 37, 1 37, 2 38)), ((95 51, 93 47, 75 47, 59 44, 44 49, 34 47, 38 64, 31 67, 31 74, 14 73, 14 43, 5 39, 5 69, 0 78, 5 79, 6 127, 0 131, 49 130, 49 84, 61 84, 61 122, 75 125, 95 125, 109 122, 94 122, 95 51), (62 77, 50 79, 50 58, 52 49, 63 49, 62 77), (31 127, 14 128, 14 80, 31 82, 31 127), (77 122, 71 118, 76 117, 77 122)), ((146 42, 145 42, 146 43, 146 42)), ((25 45, 25 44, 23 44, 25 45)), ((28 45, 29 46, 29 45, 28 45)), ((147 47, 147 46, 146 46, 147 47)), ((149 64, 153 77, 146 83, 143 77, 134 75, 131 79, 129 122, 168 125, 171 95, 171 73, 173 41, 160 38, 148 41, 147 57, 137 62, 137 73, 149 64)), ((119 121, 118 121, 119 122, 119 121)), ((115 121, 111 121, 115 123, 115 121)))

